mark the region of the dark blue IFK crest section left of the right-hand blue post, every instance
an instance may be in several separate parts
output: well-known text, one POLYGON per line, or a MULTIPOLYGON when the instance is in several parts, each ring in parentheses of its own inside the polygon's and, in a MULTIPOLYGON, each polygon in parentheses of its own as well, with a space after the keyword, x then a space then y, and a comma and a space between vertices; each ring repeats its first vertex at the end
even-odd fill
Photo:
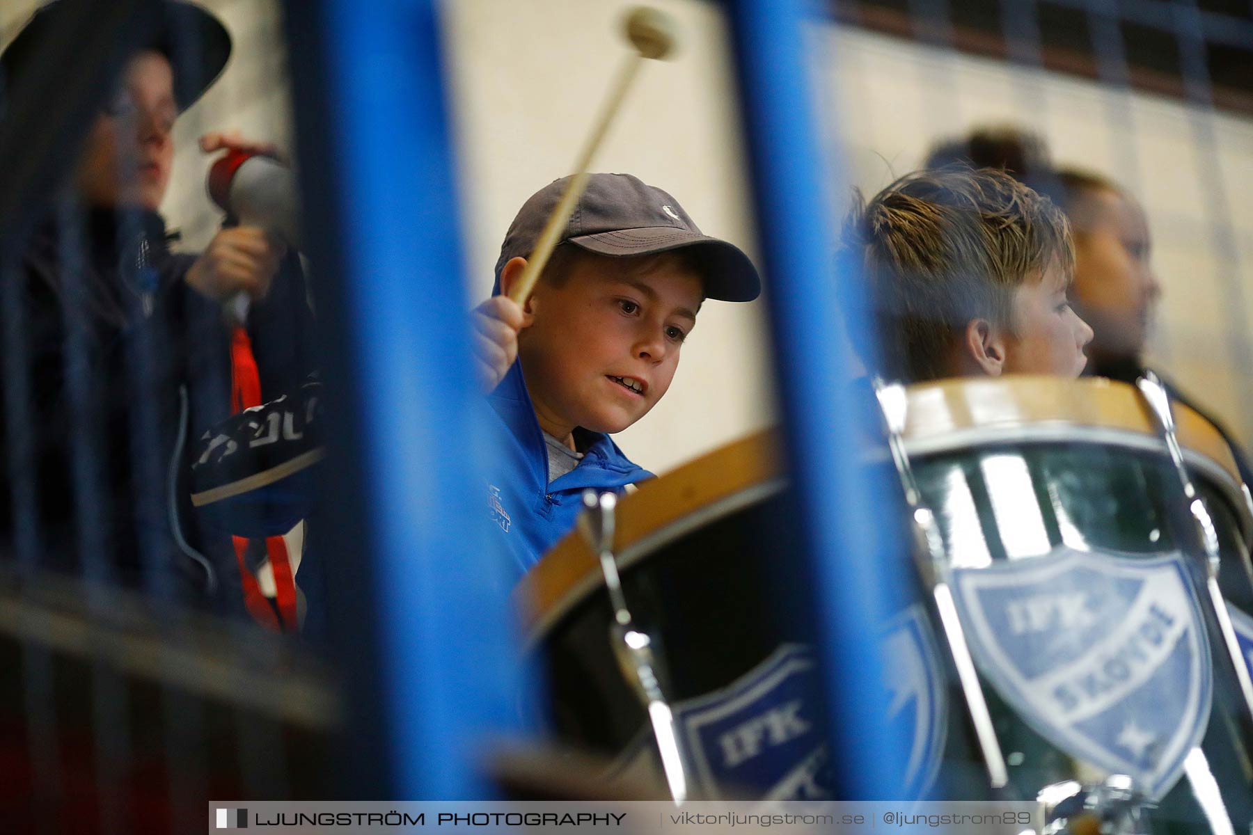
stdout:
POLYGON ((702 787, 757 789, 767 800, 828 797, 817 676, 809 650, 786 643, 729 686, 677 704, 675 725, 702 787))

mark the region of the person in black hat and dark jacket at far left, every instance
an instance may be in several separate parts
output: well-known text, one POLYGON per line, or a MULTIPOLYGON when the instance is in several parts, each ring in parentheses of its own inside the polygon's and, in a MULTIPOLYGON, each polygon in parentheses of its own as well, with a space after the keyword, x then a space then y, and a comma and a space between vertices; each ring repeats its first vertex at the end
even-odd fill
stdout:
MULTIPOLYGON (((8 84, 68 14, 48 4, 19 33, 0 55, 8 84)), ((263 387, 303 377, 303 278, 257 228, 172 253, 157 212, 174 121, 229 53, 213 15, 167 3, 5 273, 0 547, 29 567, 242 611, 229 541, 203 537, 189 512, 185 442, 231 412, 237 328, 263 387), (224 312, 239 294, 253 300, 246 322, 224 312)), ((221 134, 202 148, 258 149, 221 134)))

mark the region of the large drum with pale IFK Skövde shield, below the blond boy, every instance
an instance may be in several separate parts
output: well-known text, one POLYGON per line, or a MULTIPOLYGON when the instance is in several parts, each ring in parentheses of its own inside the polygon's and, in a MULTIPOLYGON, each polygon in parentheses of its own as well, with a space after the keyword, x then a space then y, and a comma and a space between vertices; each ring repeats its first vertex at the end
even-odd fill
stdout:
MULTIPOLYGON (((1239 625, 1253 611, 1245 492, 1218 431, 1174 413, 1239 625)), ((1006 791, 1059 817, 1104 815, 1101 831, 1248 831, 1249 716, 1197 522, 1139 393, 1095 378, 915 386, 903 441, 1006 791)), ((965 715, 952 731, 942 791, 995 796, 965 715)))

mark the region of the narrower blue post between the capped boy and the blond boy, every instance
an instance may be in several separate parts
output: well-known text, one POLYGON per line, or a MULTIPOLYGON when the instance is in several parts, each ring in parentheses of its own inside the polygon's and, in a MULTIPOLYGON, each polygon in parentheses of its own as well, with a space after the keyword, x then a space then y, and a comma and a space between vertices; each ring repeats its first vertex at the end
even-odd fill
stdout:
MULTIPOLYGON (((840 334, 868 328, 868 305, 856 277, 837 274, 837 219, 824 199, 831 172, 812 113, 806 4, 728 0, 727 6, 832 756, 845 799, 893 797, 905 746, 885 721, 876 638, 902 598, 903 545, 888 536, 885 547, 875 526, 892 526, 896 505, 885 501, 882 476, 858 466, 863 439, 873 437, 858 421, 872 412, 847 384, 852 374, 840 334)), ((865 334, 850 336, 868 344, 865 334)))

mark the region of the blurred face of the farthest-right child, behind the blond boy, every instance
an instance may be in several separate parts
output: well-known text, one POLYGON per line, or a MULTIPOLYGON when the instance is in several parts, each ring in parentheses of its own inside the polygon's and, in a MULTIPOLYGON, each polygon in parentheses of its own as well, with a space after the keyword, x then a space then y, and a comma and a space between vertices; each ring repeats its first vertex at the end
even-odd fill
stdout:
POLYGON ((1162 294, 1149 264, 1149 224, 1135 203, 1110 190, 1084 198, 1090 218, 1075 228, 1075 304, 1109 357, 1139 357, 1162 294))

